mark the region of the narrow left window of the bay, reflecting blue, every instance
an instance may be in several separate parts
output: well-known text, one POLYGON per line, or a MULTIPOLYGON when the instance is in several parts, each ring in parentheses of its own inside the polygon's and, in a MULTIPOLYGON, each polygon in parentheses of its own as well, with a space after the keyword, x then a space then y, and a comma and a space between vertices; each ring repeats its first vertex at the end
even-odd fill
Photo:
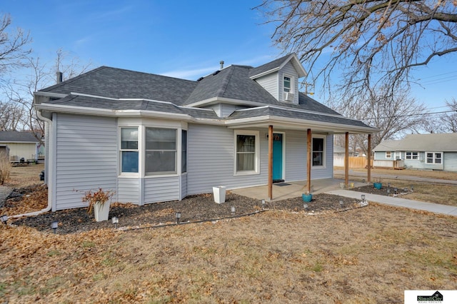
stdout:
POLYGON ((138 173, 138 128, 121 128, 121 171, 138 173))

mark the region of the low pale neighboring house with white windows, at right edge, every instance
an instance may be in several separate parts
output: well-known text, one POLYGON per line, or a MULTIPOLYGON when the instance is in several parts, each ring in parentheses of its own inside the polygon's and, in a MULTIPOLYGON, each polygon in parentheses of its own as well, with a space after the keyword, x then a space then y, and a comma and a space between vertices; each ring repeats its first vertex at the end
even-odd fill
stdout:
POLYGON ((457 133, 410 134, 398 141, 382 141, 373 148, 373 166, 457 171, 457 133), (389 165, 389 163, 391 165, 389 165))

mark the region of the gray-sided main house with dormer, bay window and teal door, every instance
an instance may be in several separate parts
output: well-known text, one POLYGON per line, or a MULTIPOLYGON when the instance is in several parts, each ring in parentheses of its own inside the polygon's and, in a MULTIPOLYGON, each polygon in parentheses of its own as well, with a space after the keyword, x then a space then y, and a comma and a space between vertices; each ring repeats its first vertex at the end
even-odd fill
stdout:
POLYGON ((298 92, 303 76, 291 54, 198 81, 101 66, 36 92, 52 210, 84 206, 80 191, 99 187, 144 205, 303 181, 308 144, 311 178, 332 178, 333 134, 378 130, 298 92))

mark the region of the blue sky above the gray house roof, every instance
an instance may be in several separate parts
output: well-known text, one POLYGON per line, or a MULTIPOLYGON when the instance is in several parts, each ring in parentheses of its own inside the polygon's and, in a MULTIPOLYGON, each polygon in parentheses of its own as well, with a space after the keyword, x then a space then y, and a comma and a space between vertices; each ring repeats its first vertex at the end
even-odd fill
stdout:
MULTIPOLYGON (((57 49, 96 66, 196 80, 225 66, 258 66, 281 56, 262 24, 260 0, 8 0, 0 13, 30 31, 34 56, 52 61, 57 49)), ((303 64, 307 70, 306 63, 303 64)), ((428 108, 456 97, 457 57, 418 69, 413 96, 428 108)), ((319 100, 319 93, 313 96, 319 100)), ((443 111, 437 108, 433 111, 443 111)))

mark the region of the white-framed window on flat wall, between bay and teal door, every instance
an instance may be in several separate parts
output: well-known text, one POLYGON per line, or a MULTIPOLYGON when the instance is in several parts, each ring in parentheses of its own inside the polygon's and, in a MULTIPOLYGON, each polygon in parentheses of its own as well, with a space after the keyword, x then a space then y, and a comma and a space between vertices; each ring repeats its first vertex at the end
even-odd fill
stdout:
POLYGON ((258 171, 258 132, 236 131, 236 173, 258 171))

